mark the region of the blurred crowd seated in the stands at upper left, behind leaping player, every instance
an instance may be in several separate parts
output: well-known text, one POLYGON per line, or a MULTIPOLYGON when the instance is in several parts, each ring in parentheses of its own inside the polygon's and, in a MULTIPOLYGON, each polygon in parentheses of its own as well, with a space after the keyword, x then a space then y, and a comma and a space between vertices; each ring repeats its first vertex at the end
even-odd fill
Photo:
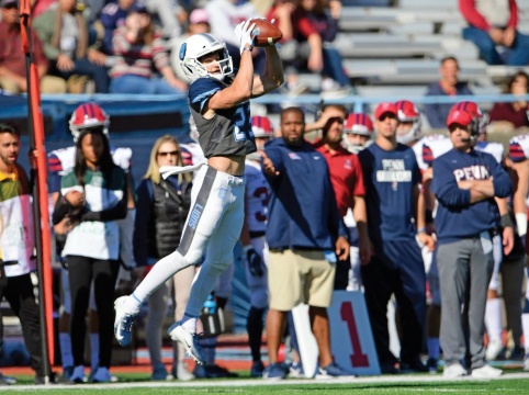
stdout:
MULTIPOLYGON (((270 1, 257 10, 250 1, 214 0, 37 0, 33 4, 33 46, 43 93, 184 93, 189 79, 180 71, 179 44, 200 31, 222 40, 238 68, 235 26, 268 16, 284 32, 282 59, 288 66, 290 93, 308 90, 300 71, 320 74, 323 90, 347 95, 351 82, 339 52, 333 46, 341 2, 331 0, 270 1), (103 7, 104 5, 104 7, 103 7), (92 81, 91 86, 87 86, 92 81)), ((2 0, 0 87, 25 92, 24 54, 18 27, 18 0, 2 0)), ((256 71, 262 72, 264 52, 252 50, 256 71)))

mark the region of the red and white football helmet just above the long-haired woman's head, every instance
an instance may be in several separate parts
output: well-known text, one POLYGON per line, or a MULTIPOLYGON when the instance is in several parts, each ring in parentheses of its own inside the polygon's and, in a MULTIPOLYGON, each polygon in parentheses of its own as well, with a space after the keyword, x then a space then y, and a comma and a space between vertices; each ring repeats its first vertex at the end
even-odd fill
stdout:
POLYGON ((69 126, 74 142, 77 143, 81 134, 87 132, 101 132, 109 134, 110 117, 95 103, 79 105, 71 114, 69 126))

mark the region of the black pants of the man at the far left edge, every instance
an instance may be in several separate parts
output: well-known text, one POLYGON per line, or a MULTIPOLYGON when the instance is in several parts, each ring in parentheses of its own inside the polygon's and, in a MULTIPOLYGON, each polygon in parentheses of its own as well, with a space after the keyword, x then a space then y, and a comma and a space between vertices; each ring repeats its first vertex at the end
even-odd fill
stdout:
POLYGON ((7 281, 0 284, 0 302, 5 296, 22 325, 25 347, 31 357, 31 366, 38 376, 44 376, 40 313, 30 273, 7 278, 7 281))

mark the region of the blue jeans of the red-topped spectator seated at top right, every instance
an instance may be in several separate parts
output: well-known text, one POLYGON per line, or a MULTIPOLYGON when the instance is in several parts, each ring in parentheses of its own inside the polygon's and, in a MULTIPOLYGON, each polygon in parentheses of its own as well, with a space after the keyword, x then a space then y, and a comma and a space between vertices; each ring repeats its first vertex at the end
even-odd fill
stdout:
POLYGON ((499 55, 496 44, 487 32, 477 27, 463 29, 463 38, 477 46, 480 55, 488 65, 527 66, 529 65, 529 36, 516 32, 513 46, 499 55))

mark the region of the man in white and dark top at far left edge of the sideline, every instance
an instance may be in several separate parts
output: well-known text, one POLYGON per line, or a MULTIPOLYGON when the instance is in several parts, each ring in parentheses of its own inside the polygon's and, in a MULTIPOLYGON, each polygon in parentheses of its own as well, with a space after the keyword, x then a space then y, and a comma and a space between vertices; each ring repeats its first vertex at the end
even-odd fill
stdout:
POLYGON ((19 151, 20 131, 0 124, 0 302, 5 297, 21 321, 34 383, 45 384, 40 312, 31 280, 36 268, 30 181, 16 162, 19 151))

